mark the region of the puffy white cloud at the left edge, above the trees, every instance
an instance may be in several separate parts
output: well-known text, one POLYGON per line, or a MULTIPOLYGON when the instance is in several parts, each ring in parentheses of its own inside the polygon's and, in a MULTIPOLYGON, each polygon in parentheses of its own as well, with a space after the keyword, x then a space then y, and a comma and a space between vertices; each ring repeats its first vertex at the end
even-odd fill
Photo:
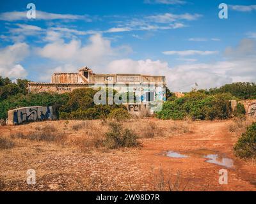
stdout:
POLYGON ((29 55, 29 47, 26 43, 16 43, 0 50, 0 75, 4 77, 24 78, 26 69, 20 62, 29 55))

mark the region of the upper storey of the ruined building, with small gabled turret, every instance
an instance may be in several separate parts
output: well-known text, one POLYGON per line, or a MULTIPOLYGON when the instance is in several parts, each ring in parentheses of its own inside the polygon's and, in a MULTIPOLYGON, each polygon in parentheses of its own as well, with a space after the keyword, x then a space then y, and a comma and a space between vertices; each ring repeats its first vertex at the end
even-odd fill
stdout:
POLYGON ((148 84, 163 83, 164 76, 137 74, 95 74, 92 69, 84 67, 78 73, 53 73, 52 84, 148 84))

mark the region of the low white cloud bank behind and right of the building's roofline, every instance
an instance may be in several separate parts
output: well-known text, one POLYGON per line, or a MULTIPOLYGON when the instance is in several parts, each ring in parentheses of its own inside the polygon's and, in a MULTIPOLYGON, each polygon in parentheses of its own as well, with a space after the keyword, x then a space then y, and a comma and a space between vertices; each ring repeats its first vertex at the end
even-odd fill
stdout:
POLYGON ((166 83, 172 91, 191 91, 195 87, 195 82, 199 88, 210 88, 232 82, 232 78, 220 75, 218 69, 227 66, 216 64, 211 69, 212 64, 185 64, 171 68, 167 62, 134 61, 132 59, 121 59, 108 64, 110 73, 143 73, 150 75, 166 76, 166 83))

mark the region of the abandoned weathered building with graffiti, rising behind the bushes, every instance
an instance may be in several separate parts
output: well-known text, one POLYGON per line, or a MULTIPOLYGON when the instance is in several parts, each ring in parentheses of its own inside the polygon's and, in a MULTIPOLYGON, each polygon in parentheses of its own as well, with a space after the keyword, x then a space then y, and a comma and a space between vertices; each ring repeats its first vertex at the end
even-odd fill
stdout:
POLYGON ((51 83, 28 84, 29 92, 70 92, 84 87, 113 87, 118 92, 134 92, 141 102, 166 101, 164 76, 138 74, 95 74, 83 67, 78 73, 53 73, 51 83))

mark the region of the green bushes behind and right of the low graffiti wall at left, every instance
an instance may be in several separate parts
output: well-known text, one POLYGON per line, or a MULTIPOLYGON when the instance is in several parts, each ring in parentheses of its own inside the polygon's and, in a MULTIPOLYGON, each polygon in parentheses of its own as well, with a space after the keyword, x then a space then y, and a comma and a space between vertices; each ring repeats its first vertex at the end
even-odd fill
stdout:
MULTIPOLYGON (((25 81, 22 80, 19 83, 24 84, 25 81)), ((17 87, 16 84, 8 85, 15 85, 17 87)), ((8 87, 8 85, 4 87, 8 87)), ((20 94, 19 89, 17 89, 18 93, 16 95, 8 96, 3 101, 0 101, 0 119, 6 119, 8 110, 25 106, 56 106, 60 119, 105 119, 116 108, 122 109, 122 117, 129 115, 126 108, 122 105, 95 105, 93 96, 97 91, 99 90, 86 88, 76 89, 65 94, 42 92, 24 95, 20 94)), ((107 93, 108 91, 109 89, 107 89, 107 93)), ((113 92, 115 93, 115 91, 113 92)), ((120 114, 118 117, 120 117, 120 114)))

